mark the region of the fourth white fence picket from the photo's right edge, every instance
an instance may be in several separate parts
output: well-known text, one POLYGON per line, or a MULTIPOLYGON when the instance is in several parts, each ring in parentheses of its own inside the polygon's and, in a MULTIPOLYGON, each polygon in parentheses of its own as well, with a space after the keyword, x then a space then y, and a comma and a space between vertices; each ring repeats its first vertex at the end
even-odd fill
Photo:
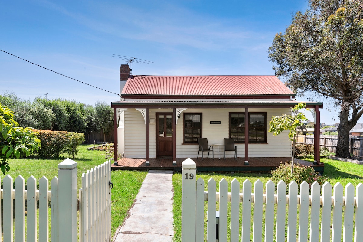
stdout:
POLYGON ((323 196, 321 206, 321 242, 330 241, 330 220, 331 220, 331 185, 325 182, 323 185, 323 196))

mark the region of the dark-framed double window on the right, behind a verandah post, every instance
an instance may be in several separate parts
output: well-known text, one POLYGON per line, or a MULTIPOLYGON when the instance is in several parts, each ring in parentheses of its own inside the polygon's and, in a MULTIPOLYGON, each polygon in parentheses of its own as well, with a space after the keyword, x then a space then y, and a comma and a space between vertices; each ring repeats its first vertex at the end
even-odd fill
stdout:
MULTIPOLYGON (((250 112, 249 120, 249 143, 266 143, 267 122, 266 112, 250 112)), ((245 113, 229 113, 229 138, 236 143, 245 143, 245 113)))

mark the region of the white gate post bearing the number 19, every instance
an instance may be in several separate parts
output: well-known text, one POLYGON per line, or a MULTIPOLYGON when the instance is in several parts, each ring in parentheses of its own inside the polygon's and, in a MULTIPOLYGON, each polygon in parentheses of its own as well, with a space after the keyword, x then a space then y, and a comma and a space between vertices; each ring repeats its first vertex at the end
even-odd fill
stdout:
POLYGON ((181 241, 195 242, 196 226, 196 165, 188 158, 181 163, 181 241))

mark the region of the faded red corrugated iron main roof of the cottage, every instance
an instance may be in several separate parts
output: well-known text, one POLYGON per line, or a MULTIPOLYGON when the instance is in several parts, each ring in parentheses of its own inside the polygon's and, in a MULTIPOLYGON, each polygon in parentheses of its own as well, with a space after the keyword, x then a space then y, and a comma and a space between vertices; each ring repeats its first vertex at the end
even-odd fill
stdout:
POLYGON ((122 95, 294 95, 276 76, 131 75, 122 95))

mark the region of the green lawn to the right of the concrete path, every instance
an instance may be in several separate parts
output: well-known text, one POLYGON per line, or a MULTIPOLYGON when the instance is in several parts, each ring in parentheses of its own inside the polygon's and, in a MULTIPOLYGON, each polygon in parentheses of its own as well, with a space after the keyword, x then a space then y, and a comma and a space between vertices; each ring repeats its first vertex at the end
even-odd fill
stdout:
MULTIPOLYGON (((351 182, 354 186, 357 186, 360 182, 363 182, 363 165, 352 164, 349 162, 336 161, 331 159, 321 159, 321 162, 325 163, 324 174, 330 180, 331 185, 335 185, 340 182, 343 186, 351 182)), ((248 179, 252 182, 252 191, 254 188, 254 182, 260 179, 262 183, 270 179, 270 174, 260 174, 260 173, 197 173, 196 180, 201 177, 205 181, 205 190, 207 190, 207 182, 212 177, 216 181, 217 191, 219 191, 219 181, 224 178, 229 183, 229 188, 231 181, 236 178, 240 182, 240 187, 242 190, 242 183, 248 179)), ((181 241, 181 173, 175 173, 173 175, 173 185, 174 185, 174 241, 181 241)), ((217 202, 218 209, 218 202, 217 202)), ((252 211, 253 214, 253 211, 252 211)), ((240 216, 241 217, 241 216, 240 216)), ((240 221, 241 222, 241 221, 240 221)))

